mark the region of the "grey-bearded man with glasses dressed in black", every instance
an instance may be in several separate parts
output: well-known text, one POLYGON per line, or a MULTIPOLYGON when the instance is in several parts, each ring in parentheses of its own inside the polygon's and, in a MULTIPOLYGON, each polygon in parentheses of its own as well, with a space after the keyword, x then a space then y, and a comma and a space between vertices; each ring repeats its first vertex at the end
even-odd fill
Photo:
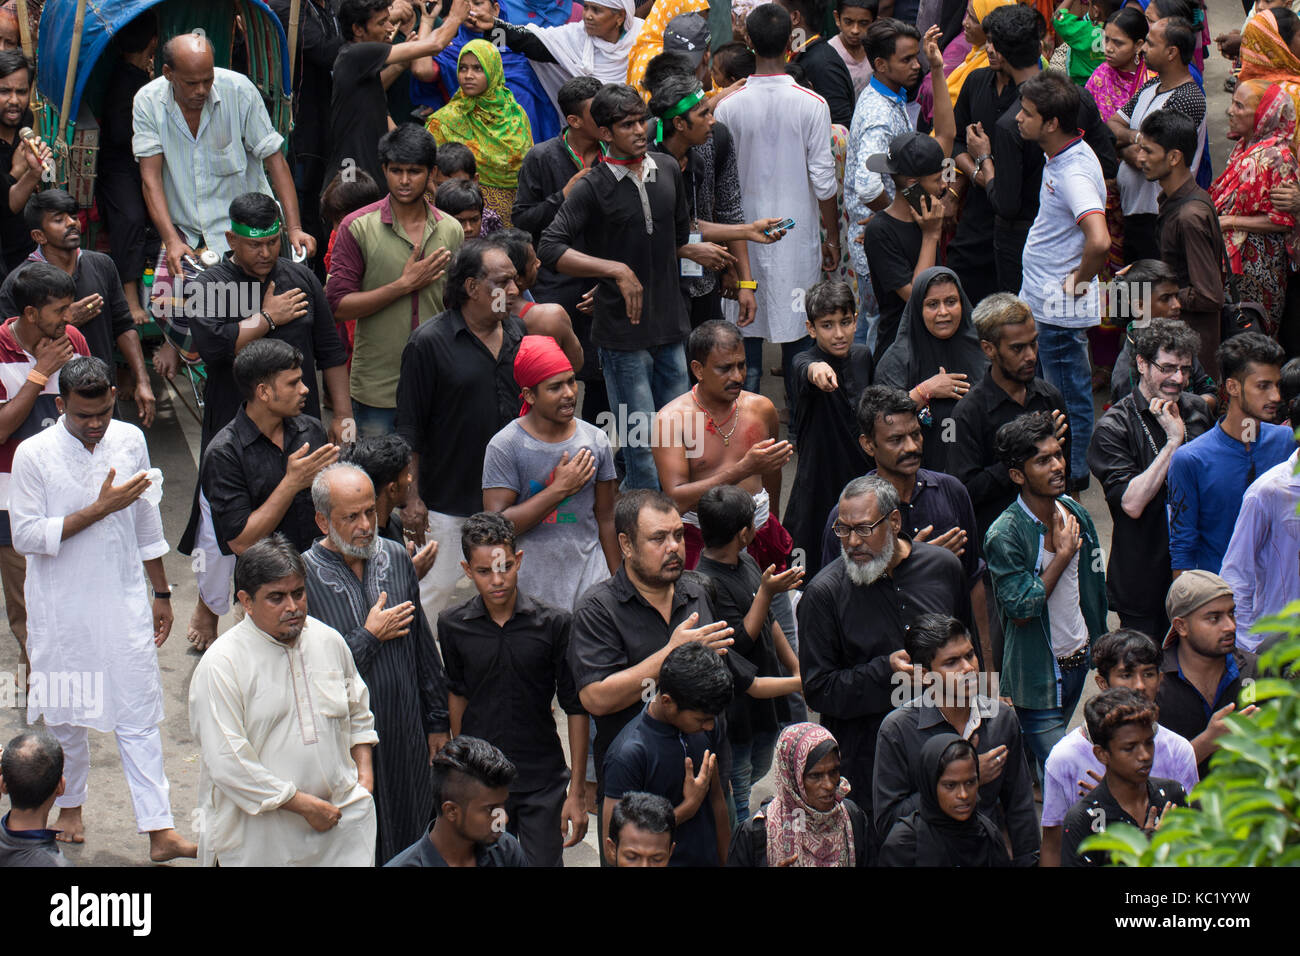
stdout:
POLYGON ((803 695, 840 743, 840 773, 868 813, 876 734, 910 695, 904 635, 927 613, 971 626, 961 558, 901 528, 892 484, 875 475, 850 481, 832 528, 840 561, 822 568, 798 605, 803 695))

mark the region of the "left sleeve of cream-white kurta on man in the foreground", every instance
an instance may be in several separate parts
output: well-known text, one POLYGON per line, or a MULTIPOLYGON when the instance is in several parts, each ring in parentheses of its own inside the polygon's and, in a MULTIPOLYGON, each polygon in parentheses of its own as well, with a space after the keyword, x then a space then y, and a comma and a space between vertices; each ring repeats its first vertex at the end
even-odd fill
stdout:
POLYGON ((244 701, 230 662, 205 657, 190 683, 190 727, 199 737, 203 763, 217 787, 250 816, 277 810, 298 793, 261 762, 244 735, 244 701))

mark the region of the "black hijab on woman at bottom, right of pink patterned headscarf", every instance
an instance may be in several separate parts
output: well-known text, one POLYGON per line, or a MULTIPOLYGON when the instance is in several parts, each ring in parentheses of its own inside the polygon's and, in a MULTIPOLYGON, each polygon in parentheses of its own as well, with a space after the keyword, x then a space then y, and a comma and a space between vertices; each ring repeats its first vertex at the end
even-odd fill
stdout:
MULTIPOLYGON (((916 827, 918 866, 1005 866, 1006 848, 1001 834, 976 808, 966 821, 944 813, 939 805, 939 778, 944 775, 944 754, 954 744, 965 743, 956 734, 940 734, 920 748, 916 790, 920 796, 916 827)), ((974 748, 970 750, 974 753, 974 748)), ((979 775, 979 758, 975 758, 979 775)))

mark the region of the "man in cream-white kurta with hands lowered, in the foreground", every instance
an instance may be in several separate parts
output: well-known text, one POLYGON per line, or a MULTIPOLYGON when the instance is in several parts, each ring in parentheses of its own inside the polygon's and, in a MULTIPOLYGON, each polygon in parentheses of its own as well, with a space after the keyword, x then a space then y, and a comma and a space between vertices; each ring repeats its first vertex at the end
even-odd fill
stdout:
MULTIPOLYGON (((274 538, 259 541, 239 563, 265 559, 273 548, 281 548, 274 538)), ((283 626, 282 609, 294 602, 306 615, 307 600, 302 557, 287 542, 282 549, 286 570, 296 562, 296 571, 259 583, 252 596, 237 564, 247 617, 217 637, 190 682, 190 728, 203 756, 199 860, 373 866, 369 749, 378 735, 369 691, 334 628, 300 617, 302 631, 286 637, 296 627, 283 626), (265 600, 276 589, 281 611, 265 600), (364 758, 355 760, 359 752, 364 758)))

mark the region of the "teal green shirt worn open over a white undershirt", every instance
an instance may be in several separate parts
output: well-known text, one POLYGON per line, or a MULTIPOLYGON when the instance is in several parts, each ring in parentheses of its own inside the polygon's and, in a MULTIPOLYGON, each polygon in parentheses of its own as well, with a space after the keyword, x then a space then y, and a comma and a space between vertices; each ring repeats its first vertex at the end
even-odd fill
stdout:
MULTIPOLYGON (((1058 501, 1079 522, 1079 605, 1092 641, 1106 631, 1105 555, 1097 528, 1083 505, 1061 496, 1058 501)), ((1002 622, 1001 689, 1017 706, 1050 710, 1061 705, 1061 676, 1052 653, 1048 592, 1037 575, 1039 548, 1046 528, 1020 507, 1019 498, 998 515, 984 536, 984 559, 993 576, 997 615, 1002 622)), ((1091 658, 1089 658, 1091 666, 1091 658)))

